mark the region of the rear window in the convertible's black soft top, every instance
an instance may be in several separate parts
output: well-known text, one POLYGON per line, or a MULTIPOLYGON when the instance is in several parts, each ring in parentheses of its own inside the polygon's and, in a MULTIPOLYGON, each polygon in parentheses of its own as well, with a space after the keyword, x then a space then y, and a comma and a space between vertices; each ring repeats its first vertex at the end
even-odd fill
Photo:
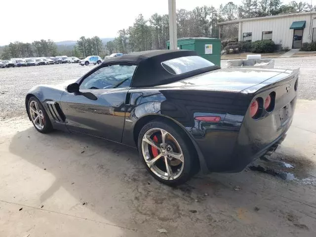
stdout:
POLYGON ((161 65, 168 73, 173 75, 180 75, 197 69, 214 66, 213 63, 200 56, 173 58, 162 62, 161 65))

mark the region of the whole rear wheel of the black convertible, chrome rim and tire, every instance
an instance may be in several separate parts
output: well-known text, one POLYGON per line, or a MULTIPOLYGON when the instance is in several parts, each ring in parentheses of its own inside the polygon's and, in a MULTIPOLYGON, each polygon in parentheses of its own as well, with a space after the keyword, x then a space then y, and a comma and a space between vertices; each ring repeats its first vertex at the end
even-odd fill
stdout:
POLYGON ((197 171, 194 146, 180 127, 167 121, 153 120, 144 125, 138 151, 151 175, 166 185, 183 184, 197 171))

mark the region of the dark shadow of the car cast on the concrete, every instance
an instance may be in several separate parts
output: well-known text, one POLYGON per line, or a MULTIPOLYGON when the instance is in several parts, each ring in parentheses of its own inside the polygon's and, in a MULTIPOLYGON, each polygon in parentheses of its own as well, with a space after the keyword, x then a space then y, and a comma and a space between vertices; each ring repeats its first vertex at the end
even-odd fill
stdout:
MULTIPOLYGON (((235 174, 197 174, 184 185, 168 187, 147 172, 136 149, 82 134, 41 134, 33 127, 17 132, 9 151, 35 165, 38 173, 54 177, 48 188, 36 188, 39 203, 61 201, 63 189, 77 202, 62 201, 67 214, 85 218, 79 208, 84 205, 96 214, 95 220, 137 230, 139 236, 158 236, 156 230, 161 228, 170 236, 219 232, 244 236, 252 233, 252 226, 269 235, 288 234, 289 229, 305 231, 283 218, 289 212, 316 229, 315 214, 305 205, 316 209, 311 198, 316 191, 248 169, 235 174), (261 215, 255 207, 263 209, 261 215)), ((302 165, 300 172, 303 169, 302 165)))

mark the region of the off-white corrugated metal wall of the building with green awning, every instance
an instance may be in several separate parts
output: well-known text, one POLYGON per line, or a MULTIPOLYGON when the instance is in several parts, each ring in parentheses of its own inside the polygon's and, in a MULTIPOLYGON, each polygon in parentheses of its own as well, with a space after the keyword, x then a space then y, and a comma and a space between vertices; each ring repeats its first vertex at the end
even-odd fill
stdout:
MULTIPOLYGON (((313 15, 313 18, 316 14, 313 15)), ((242 22, 242 33, 252 32, 252 41, 262 40, 263 31, 272 31, 272 40, 275 43, 281 43, 282 47, 292 48, 293 30, 290 26, 293 21, 306 21, 306 27, 303 32, 303 42, 308 42, 310 30, 310 15, 279 17, 266 20, 253 20, 242 22)), ((316 28, 315 20, 313 28, 316 28)))

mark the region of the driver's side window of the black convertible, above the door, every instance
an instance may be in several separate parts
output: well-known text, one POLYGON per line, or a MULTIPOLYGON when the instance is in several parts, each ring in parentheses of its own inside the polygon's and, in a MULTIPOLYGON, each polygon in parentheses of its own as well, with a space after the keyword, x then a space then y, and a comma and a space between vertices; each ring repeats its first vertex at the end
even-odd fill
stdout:
POLYGON ((80 89, 129 87, 135 69, 135 65, 110 65, 100 68, 83 79, 80 89))

